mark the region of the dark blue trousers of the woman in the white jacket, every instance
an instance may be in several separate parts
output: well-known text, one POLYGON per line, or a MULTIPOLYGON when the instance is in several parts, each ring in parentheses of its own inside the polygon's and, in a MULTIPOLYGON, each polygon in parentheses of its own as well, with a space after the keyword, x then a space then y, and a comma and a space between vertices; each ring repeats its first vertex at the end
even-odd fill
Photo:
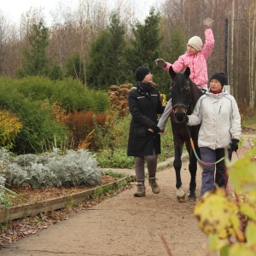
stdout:
MULTIPOLYGON (((224 148, 200 148, 201 160, 206 163, 215 163, 224 157, 224 148)), ((229 150, 229 159, 231 160, 232 152, 229 150)), ((220 188, 226 188, 228 183, 228 175, 226 173, 226 167, 224 160, 218 164, 211 166, 203 165, 203 172, 201 174, 201 195, 204 195, 208 190, 215 189, 216 183, 220 188), (214 178, 215 174, 215 178, 214 178)))

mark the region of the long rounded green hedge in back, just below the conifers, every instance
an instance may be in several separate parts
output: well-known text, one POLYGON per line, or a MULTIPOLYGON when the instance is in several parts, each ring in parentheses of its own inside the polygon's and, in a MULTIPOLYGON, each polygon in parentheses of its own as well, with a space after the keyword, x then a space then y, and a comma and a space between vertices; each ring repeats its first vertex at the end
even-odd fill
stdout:
POLYGON ((104 112, 109 108, 108 94, 99 90, 89 90, 76 79, 66 78, 52 81, 44 77, 26 77, 23 79, 2 79, 11 84, 11 90, 17 90, 31 101, 48 100, 51 104, 60 102, 68 111, 94 110, 104 112))

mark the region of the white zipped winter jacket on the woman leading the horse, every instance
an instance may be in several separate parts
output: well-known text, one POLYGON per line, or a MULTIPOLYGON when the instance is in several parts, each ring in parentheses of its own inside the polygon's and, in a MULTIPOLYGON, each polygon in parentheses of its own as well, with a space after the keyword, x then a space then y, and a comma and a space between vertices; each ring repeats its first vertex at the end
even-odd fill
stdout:
POLYGON ((230 148, 232 138, 241 139, 241 117, 234 96, 226 90, 212 94, 207 90, 188 115, 188 125, 199 125, 198 146, 230 148))

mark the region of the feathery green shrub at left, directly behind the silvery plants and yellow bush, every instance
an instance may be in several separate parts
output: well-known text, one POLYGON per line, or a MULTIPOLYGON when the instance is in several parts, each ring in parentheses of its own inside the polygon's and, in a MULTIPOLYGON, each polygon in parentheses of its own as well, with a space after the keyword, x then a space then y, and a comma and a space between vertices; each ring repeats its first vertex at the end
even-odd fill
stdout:
POLYGON ((20 117, 22 129, 15 138, 12 151, 16 154, 42 152, 49 149, 55 142, 68 137, 67 128, 53 120, 50 106, 42 108, 41 102, 32 102, 25 98, 10 84, 0 83, 0 105, 20 117))

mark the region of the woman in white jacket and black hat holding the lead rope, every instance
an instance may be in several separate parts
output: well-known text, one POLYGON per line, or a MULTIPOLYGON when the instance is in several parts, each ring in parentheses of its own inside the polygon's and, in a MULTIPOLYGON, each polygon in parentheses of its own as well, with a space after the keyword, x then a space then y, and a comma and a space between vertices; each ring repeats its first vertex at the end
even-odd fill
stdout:
MULTIPOLYGON (((224 73, 213 73, 209 89, 196 103, 194 112, 186 118, 188 125, 201 124, 198 146, 201 160, 206 163, 215 163, 223 158, 225 148, 228 148, 231 160, 232 152, 238 149, 241 139, 241 116, 234 96, 224 90, 225 80, 224 73)), ((203 165, 201 195, 215 189, 215 183, 225 188, 228 182, 225 171, 224 160, 211 166, 203 165)))

